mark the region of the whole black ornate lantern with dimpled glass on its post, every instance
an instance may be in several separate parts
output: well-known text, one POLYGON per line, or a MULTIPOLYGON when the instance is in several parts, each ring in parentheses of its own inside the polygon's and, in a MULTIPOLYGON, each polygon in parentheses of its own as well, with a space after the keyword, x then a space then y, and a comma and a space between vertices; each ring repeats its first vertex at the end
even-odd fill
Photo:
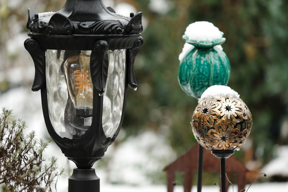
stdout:
POLYGON ((100 191, 92 167, 122 125, 134 59, 143 45, 142 13, 124 17, 101 0, 67 0, 58 12, 29 8, 24 42, 35 64, 50 136, 75 162, 69 192, 100 191))

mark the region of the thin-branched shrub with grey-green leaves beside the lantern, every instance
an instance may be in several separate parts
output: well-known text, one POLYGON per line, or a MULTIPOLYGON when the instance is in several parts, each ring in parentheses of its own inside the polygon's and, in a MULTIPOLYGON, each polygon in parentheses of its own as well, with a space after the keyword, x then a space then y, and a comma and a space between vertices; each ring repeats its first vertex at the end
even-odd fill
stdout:
POLYGON ((25 121, 12 118, 12 110, 2 109, 0 116, 0 185, 4 192, 52 191, 58 176, 57 159, 43 164, 42 152, 48 143, 35 138, 35 131, 24 136, 25 121))

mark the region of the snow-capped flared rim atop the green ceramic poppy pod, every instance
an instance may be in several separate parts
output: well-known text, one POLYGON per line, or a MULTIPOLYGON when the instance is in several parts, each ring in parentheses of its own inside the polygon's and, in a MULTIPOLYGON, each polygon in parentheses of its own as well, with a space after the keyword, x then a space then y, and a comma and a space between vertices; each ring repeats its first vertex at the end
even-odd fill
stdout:
POLYGON ((225 42, 223 32, 208 21, 197 21, 187 26, 183 39, 195 47, 214 47, 225 42))

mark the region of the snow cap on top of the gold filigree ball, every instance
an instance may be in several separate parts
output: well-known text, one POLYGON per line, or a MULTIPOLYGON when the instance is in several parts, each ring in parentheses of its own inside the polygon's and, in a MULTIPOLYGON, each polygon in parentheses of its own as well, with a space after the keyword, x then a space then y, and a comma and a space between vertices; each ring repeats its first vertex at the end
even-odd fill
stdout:
POLYGON ((240 98, 240 95, 228 86, 213 85, 203 92, 203 94, 198 100, 198 103, 200 103, 203 99, 218 98, 225 96, 230 96, 232 98, 240 98))

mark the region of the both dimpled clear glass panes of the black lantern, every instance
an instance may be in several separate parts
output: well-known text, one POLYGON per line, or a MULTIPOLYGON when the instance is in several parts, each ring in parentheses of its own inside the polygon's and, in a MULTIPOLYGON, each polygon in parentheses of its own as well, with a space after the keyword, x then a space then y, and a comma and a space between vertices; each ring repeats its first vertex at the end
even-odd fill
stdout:
MULTIPOLYGON (((62 138, 82 138, 91 127, 90 54, 91 51, 46 51, 48 112, 55 132, 62 138)), ((109 50, 108 59, 102 124, 105 136, 113 137, 123 111, 126 50, 109 50)))

